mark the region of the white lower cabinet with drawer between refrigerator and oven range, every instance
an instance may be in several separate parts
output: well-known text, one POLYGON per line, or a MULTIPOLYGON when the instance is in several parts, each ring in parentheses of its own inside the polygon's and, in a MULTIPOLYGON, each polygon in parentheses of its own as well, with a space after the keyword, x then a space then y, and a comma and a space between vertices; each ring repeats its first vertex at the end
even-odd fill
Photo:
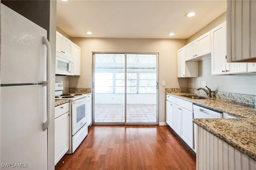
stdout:
POLYGON ((69 149, 69 103, 55 107, 54 165, 69 149))

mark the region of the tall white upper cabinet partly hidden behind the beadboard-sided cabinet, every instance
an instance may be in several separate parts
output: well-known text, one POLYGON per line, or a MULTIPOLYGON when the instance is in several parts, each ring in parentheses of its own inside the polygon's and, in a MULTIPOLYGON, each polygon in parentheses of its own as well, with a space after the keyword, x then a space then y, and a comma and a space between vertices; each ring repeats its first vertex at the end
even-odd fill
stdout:
POLYGON ((211 30, 212 75, 246 73, 247 63, 227 63, 226 22, 211 30))

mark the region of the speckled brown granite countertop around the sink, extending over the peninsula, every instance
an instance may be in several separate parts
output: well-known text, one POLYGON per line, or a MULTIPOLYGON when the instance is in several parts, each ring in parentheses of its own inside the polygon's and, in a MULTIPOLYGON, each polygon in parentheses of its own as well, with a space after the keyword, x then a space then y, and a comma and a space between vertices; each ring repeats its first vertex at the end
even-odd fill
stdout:
POLYGON ((256 108, 254 105, 222 99, 190 99, 181 96, 192 95, 188 93, 166 94, 240 117, 240 119, 193 119, 193 122, 256 161, 256 108))

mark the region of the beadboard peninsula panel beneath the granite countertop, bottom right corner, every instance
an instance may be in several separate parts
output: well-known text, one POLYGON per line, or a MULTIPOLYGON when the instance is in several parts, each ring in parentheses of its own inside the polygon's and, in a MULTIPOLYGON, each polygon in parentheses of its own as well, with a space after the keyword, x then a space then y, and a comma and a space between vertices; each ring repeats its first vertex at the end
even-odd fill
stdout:
POLYGON ((197 170, 255 170, 256 161, 197 125, 197 170))

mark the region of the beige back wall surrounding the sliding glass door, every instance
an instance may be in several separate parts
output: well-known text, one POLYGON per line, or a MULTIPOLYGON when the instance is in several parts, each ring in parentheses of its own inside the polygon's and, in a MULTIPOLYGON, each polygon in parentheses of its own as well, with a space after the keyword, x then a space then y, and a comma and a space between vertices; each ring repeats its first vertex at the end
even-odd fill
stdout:
POLYGON ((165 88, 188 87, 188 79, 177 79, 176 53, 186 40, 134 38, 71 38, 81 47, 81 76, 70 76, 69 87, 92 87, 92 52, 159 53, 159 122, 165 122, 165 88), (161 86, 162 81, 166 86, 161 86))

